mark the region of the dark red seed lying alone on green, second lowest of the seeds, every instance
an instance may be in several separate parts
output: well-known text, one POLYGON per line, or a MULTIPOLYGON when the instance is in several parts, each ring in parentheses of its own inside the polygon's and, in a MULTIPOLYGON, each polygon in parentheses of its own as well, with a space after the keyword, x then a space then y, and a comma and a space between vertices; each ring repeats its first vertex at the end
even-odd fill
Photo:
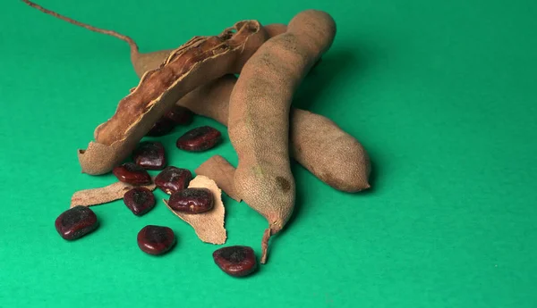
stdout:
POLYGON ((138 232, 138 246, 147 254, 166 254, 175 246, 174 230, 168 227, 148 225, 138 232))

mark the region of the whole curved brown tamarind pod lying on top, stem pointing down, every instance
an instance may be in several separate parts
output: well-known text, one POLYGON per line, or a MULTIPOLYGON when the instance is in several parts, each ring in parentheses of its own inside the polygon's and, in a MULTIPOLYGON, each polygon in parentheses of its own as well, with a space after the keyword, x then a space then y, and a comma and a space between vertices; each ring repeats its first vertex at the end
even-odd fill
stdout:
POLYGON ((234 185, 268 221, 261 263, 267 260, 269 237, 285 226, 294 209, 288 146, 294 92, 335 36, 336 23, 328 13, 298 13, 285 33, 268 39, 251 56, 230 97, 229 137, 239 158, 234 185))

